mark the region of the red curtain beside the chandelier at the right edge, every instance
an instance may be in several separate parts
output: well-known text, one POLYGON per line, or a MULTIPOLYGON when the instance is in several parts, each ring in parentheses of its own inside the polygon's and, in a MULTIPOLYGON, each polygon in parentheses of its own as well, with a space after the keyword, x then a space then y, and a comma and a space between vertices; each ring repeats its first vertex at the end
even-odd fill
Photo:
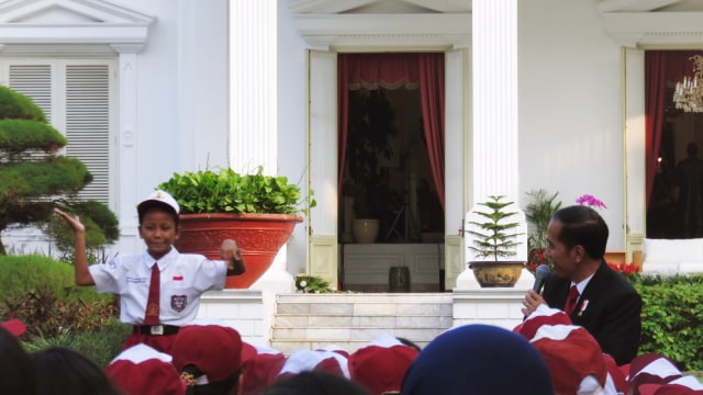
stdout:
POLYGON ((661 148, 661 129, 668 98, 667 84, 680 81, 684 75, 693 76, 693 55, 701 50, 647 50, 645 52, 645 169, 647 208, 655 181, 657 159, 661 148))

